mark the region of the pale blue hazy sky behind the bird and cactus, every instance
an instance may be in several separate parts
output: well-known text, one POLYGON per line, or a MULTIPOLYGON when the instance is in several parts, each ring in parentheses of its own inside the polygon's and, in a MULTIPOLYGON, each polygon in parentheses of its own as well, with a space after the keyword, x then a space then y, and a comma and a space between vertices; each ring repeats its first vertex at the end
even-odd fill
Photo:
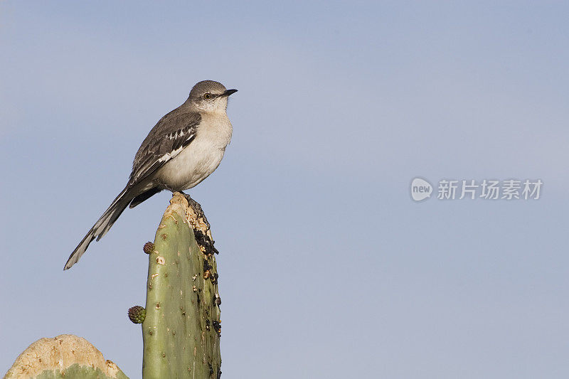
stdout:
POLYGON ((140 377, 127 309, 169 193, 62 268, 147 132, 211 79, 239 90, 221 166, 188 191, 220 250, 222 378, 567 378, 568 12, 0 1, 0 372, 73 333, 140 377), (443 178, 543 188, 442 201, 443 178))

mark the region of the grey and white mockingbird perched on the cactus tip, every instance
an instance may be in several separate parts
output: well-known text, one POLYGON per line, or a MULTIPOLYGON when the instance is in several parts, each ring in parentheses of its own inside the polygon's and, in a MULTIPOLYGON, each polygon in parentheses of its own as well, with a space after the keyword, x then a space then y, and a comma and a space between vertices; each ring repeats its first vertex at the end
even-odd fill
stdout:
POLYGON ((75 247, 63 269, 73 266, 92 240, 107 234, 127 206, 134 208, 165 189, 192 188, 218 168, 233 131, 226 110, 234 92, 213 80, 198 82, 184 104, 160 119, 134 156, 127 186, 75 247))

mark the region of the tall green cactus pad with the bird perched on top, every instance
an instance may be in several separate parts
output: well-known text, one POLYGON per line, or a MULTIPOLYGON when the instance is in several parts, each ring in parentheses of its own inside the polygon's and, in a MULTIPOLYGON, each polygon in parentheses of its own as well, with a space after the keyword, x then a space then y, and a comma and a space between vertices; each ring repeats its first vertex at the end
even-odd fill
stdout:
POLYGON ((142 376, 219 378, 217 265, 205 218, 174 193, 149 252, 142 376), (196 242, 199 237, 201 246, 196 242))

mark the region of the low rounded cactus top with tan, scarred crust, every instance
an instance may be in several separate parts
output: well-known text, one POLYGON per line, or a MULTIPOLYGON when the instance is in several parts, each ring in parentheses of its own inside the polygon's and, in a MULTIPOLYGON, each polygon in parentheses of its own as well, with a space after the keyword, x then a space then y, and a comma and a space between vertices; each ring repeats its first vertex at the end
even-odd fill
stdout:
POLYGON ((128 379, 85 338, 62 334, 41 338, 16 358, 4 378, 115 378, 128 379))

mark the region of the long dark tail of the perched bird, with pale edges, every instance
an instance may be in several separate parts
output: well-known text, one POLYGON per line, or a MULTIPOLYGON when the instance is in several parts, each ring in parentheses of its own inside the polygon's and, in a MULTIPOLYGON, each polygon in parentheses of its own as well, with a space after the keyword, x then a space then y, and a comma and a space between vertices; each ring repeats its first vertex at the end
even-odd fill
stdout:
POLYGON ((105 234, 107 234, 112 224, 114 224, 117 218, 119 218, 119 215, 122 213, 122 211, 127 208, 134 196, 136 196, 136 193, 132 193, 132 188, 130 186, 126 186, 124 190, 119 193, 119 196, 117 196, 109 208, 105 210, 105 213, 103 213, 101 218, 97 220, 95 225, 93 225, 91 230, 89 230, 89 233, 87 233, 79 245, 75 247, 75 250, 73 250, 69 256, 67 263, 65 263, 65 267, 63 267, 64 270, 70 269, 71 266, 77 263, 81 255, 83 255, 85 253, 85 250, 87 250, 87 247, 92 242, 92 240, 95 240, 95 238, 97 238, 98 241, 105 234))

